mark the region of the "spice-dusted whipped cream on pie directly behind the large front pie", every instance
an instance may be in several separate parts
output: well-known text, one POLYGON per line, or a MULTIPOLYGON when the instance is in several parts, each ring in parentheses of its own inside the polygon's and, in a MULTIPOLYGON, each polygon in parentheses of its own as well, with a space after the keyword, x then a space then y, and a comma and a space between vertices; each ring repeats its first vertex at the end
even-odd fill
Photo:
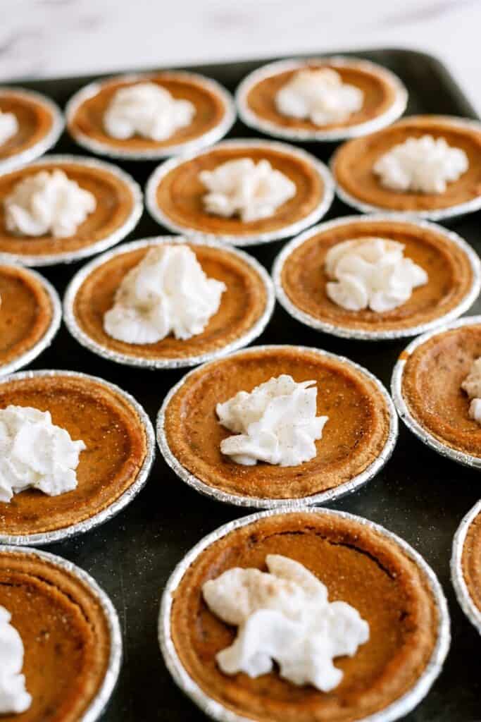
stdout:
POLYGON ((217 404, 219 421, 235 434, 221 441, 221 452, 244 466, 297 466, 314 458, 328 419, 316 416, 315 383, 282 374, 217 404))

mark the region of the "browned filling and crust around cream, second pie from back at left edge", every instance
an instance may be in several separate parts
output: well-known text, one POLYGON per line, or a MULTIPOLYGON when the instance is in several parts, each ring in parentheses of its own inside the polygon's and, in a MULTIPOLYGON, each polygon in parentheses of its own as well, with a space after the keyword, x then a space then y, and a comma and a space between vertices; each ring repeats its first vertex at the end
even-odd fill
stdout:
POLYGON ((0 177, 0 252, 20 255, 64 253, 97 243, 118 230, 133 209, 133 196, 125 181, 101 168, 76 165, 69 162, 43 162, 27 166, 0 177), (25 236, 13 235, 6 230, 4 200, 14 186, 36 175, 40 170, 63 170, 71 181, 79 183, 81 188, 90 191, 97 200, 97 207, 90 213, 75 235, 66 238, 53 238, 51 235, 25 236))

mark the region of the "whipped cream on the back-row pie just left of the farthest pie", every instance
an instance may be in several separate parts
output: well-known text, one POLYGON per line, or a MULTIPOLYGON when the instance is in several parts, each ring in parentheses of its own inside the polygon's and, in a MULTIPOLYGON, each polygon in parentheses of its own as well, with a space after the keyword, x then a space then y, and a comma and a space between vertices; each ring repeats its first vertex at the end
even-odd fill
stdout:
POLYGON ((156 83, 137 83, 115 92, 104 114, 104 127, 112 138, 138 135, 159 141, 190 125, 194 116, 195 106, 188 100, 176 100, 156 83))

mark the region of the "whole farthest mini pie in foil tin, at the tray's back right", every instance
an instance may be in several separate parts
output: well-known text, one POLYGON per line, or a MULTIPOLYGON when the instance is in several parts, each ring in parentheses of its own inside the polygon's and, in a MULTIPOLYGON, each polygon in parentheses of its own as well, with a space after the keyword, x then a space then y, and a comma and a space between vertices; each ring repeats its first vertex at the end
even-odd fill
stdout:
POLYGON ((282 60, 250 73, 236 93, 247 126, 296 141, 338 141, 397 120, 407 90, 387 68, 348 57, 282 60))

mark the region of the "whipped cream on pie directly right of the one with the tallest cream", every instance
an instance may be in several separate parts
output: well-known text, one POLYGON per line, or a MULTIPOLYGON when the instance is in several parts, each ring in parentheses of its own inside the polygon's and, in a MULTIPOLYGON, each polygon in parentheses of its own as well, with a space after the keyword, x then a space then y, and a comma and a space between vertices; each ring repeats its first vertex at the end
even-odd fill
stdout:
POLYGON ((426 271, 404 257, 404 245, 387 238, 355 238, 337 243, 326 255, 326 292, 346 310, 377 313, 406 303, 412 290, 428 282, 426 271))

